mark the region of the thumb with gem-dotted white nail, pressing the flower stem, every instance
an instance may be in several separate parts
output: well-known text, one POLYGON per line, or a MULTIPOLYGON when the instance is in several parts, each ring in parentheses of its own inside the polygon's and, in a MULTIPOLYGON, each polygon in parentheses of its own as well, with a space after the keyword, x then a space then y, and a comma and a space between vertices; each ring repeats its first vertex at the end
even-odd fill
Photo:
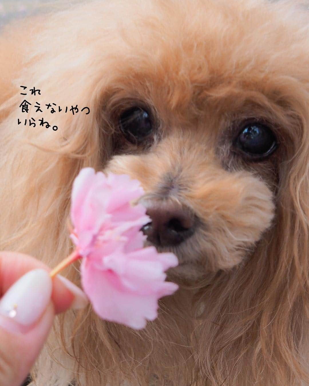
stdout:
POLYGON ((45 269, 29 271, 0 300, 0 385, 20 386, 54 320, 53 283, 45 269))

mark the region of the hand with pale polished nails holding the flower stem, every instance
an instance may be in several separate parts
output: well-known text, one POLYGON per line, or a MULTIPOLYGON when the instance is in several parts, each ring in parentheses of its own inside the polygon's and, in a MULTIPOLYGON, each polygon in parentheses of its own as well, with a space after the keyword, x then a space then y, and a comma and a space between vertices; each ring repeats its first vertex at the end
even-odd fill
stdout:
POLYGON ((0 385, 20 386, 47 339, 54 317, 83 308, 83 291, 31 256, 0 252, 0 385))

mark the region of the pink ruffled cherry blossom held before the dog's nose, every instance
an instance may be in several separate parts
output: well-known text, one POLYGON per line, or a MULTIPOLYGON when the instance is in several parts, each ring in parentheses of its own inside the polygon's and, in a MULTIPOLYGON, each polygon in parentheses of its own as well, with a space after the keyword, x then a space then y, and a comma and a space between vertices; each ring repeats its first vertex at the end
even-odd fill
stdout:
POLYGON ((71 197, 83 289, 101 318, 137 329, 158 316, 158 299, 178 288, 164 273, 177 266, 177 257, 143 248, 140 229, 150 218, 141 204, 132 205, 143 194, 139 181, 126 174, 84 168, 71 197))

